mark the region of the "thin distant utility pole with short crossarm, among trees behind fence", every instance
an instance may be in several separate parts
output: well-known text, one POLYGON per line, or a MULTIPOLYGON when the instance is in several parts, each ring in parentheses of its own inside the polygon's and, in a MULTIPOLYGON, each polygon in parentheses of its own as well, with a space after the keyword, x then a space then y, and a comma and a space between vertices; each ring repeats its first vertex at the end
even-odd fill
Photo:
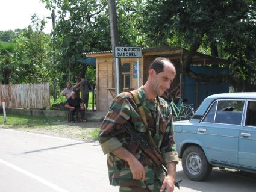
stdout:
POLYGON ((54 78, 53 78, 53 96, 54 96, 54 101, 56 101, 57 99, 57 91, 56 91, 56 58, 55 58, 55 33, 54 33, 54 28, 55 28, 55 7, 52 8, 52 14, 51 14, 51 17, 46 17, 48 19, 52 19, 52 63, 53 63, 53 66, 52 68, 54 69, 53 70, 53 73, 54 73, 54 78))

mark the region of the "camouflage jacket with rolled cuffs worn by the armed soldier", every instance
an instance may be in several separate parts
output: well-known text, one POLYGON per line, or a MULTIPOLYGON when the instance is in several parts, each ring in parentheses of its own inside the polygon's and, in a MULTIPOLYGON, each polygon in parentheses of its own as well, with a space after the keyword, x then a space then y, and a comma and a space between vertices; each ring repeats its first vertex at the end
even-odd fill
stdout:
MULTIPOLYGON (((165 163, 167 164, 171 161, 178 163, 178 154, 173 139, 172 113, 167 102, 158 97, 155 101, 149 101, 145 97, 143 87, 139 88, 138 93, 140 104, 145 111, 149 130, 154 138, 155 144, 161 151, 165 163)), ((132 123, 137 131, 142 133, 146 132, 146 127, 140 117, 139 109, 133 100, 133 96, 129 92, 120 93, 114 98, 110 110, 102 122, 101 130, 98 135, 99 143, 101 144, 104 154, 108 154, 107 166, 110 184, 146 188, 146 185, 154 185, 155 176, 162 182, 165 176, 163 170, 159 167, 155 167, 151 159, 149 159, 142 150, 138 149, 134 156, 136 156, 144 166, 146 172, 144 183, 134 180, 130 168, 127 167, 125 161, 111 153, 111 151, 120 146, 128 149, 131 138, 126 132, 118 134, 115 137, 111 136, 115 135, 113 133, 120 129, 120 125, 123 125, 126 121, 132 123)))

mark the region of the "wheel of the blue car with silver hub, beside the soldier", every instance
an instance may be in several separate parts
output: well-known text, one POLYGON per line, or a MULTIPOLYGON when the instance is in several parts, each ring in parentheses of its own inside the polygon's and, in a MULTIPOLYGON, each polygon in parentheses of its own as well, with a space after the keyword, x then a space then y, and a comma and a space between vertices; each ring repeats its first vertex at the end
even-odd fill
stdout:
POLYGON ((190 146, 183 153, 183 172, 192 181, 203 181, 211 173, 212 166, 201 148, 190 146))

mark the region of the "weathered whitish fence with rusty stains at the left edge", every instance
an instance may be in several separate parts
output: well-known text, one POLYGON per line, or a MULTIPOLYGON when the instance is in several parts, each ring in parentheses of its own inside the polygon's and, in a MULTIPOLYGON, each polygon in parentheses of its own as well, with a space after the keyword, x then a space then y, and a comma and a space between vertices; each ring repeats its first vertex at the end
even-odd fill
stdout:
POLYGON ((45 109, 50 105, 49 84, 0 85, 0 99, 7 108, 45 109))

